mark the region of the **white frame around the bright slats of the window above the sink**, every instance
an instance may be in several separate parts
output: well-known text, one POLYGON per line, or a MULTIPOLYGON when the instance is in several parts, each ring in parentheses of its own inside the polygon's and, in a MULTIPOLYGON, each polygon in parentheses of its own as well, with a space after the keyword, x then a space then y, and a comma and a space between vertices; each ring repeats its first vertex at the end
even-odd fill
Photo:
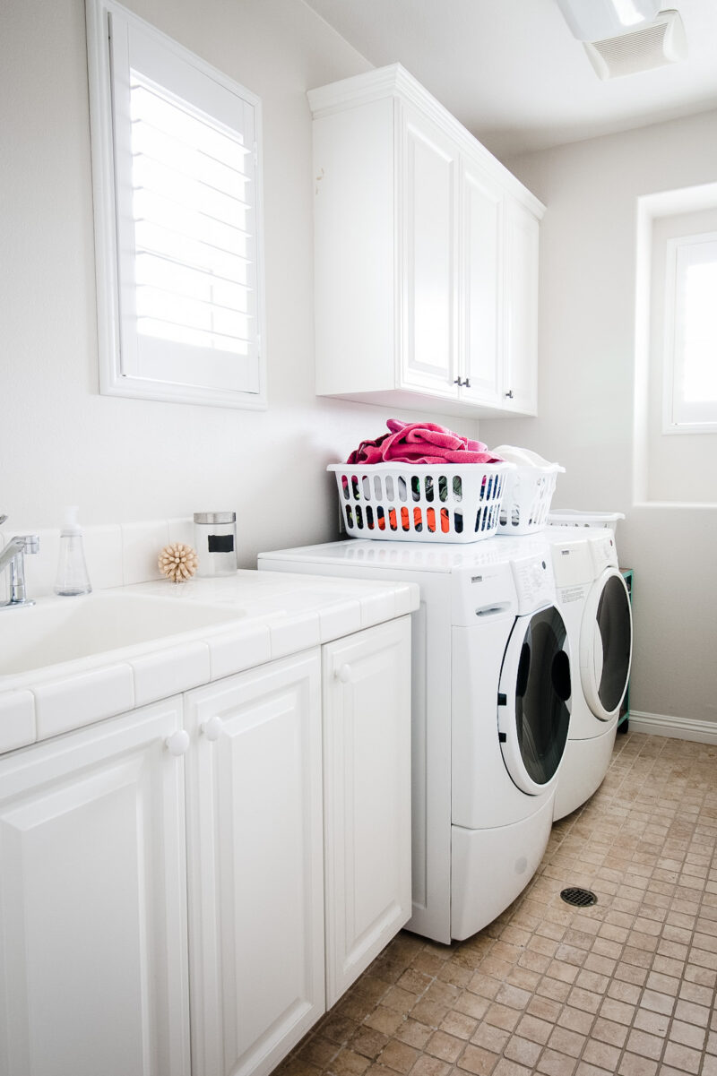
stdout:
MULTIPOLYGON (((98 352, 100 393, 109 396, 129 396, 142 399, 168 400, 173 402, 205 404, 216 407, 264 410, 266 399, 266 360, 264 354, 264 239, 263 239, 263 173, 262 173, 262 104, 258 97, 240 86, 221 71, 210 67, 194 53, 172 41, 155 27, 139 18, 132 12, 115 3, 114 0, 87 0, 87 56, 89 71, 89 103, 93 155, 93 192, 95 201, 95 252, 98 308, 98 352), (110 30, 112 29, 112 41, 110 30), (122 160, 122 150, 115 156, 115 125, 113 118, 113 76, 122 70, 117 62, 117 47, 129 33, 141 38, 150 54, 155 54, 158 63, 170 71, 182 68, 188 72, 189 82, 197 86, 203 83, 211 97, 212 87, 219 95, 226 91, 237 99, 237 109, 249 109, 253 121, 254 144, 248 147, 253 160, 254 190, 252 210, 255 221, 255 250, 253 258, 254 283, 256 287, 255 317, 252 318, 252 340, 250 362, 251 377, 242 378, 242 387, 237 387, 236 368, 231 362, 217 354, 215 360, 198 362, 189 354, 191 348, 179 345, 177 380, 161 364, 138 368, 136 349, 131 334, 121 321, 121 310, 130 303, 123 303, 121 295, 127 295, 127 264, 133 271, 133 249, 131 257, 121 254, 125 240, 118 224, 117 193, 129 176, 117 178, 117 159, 122 160), (114 55, 113 55, 114 53, 114 55), (207 80, 210 82, 208 83, 207 80), (180 353, 182 353, 180 355, 180 353), (256 367, 254 368, 254 362, 256 367), (180 372, 181 371, 181 372, 180 372), (233 377, 228 377, 233 373, 233 377), (248 388, 247 385, 250 385, 248 388)), ((157 80, 158 81, 158 80, 157 80)), ((160 85, 166 85, 163 81, 160 85)), ((171 88, 171 87, 168 87, 171 88)), ((187 96, 187 99, 188 96, 187 96)), ((197 100, 192 103, 199 107, 197 100)), ((205 105, 209 114, 214 112, 205 105)), ((221 118, 217 117, 217 118, 221 118)), ((122 201, 122 199, 120 199, 122 201)), ((130 281, 130 291, 133 278, 130 281)), ((130 300, 131 302, 131 300, 130 300)), ((197 351, 197 355, 199 352, 197 351)), ((177 374, 174 374, 177 376, 177 374)))

